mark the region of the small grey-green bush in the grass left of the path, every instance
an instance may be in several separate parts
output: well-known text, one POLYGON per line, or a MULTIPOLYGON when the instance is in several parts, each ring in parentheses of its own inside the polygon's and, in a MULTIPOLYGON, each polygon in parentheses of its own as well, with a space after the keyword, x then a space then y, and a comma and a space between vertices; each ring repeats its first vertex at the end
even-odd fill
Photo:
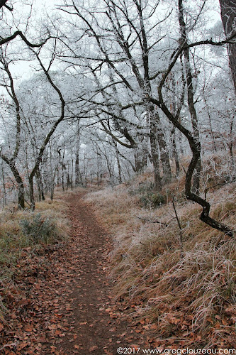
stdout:
POLYGON ((34 243, 49 243, 57 236, 57 227, 48 218, 43 219, 40 213, 33 217, 32 221, 22 219, 19 222, 22 233, 28 236, 34 243))

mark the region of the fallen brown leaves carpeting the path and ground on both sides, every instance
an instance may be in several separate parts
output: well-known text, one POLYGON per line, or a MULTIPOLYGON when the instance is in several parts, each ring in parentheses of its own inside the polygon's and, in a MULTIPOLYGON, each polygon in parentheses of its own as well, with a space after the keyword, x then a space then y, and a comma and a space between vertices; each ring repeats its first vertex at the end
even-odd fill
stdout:
MULTIPOLYGON (((138 317, 144 305, 138 295, 113 302, 108 278, 111 238, 76 195, 69 198, 69 206, 69 240, 37 252, 24 249, 14 283, 1 285, 8 308, 0 321, 1 354, 113 355, 119 346, 194 349, 206 341, 191 332, 193 316, 181 308, 174 311, 163 303, 153 320, 138 317)), ((219 337, 221 329, 235 326, 235 321, 235 307, 227 307, 225 317, 208 320, 219 329, 219 337)), ((227 344, 236 347, 232 337, 222 339, 220 346, 227 344)))

